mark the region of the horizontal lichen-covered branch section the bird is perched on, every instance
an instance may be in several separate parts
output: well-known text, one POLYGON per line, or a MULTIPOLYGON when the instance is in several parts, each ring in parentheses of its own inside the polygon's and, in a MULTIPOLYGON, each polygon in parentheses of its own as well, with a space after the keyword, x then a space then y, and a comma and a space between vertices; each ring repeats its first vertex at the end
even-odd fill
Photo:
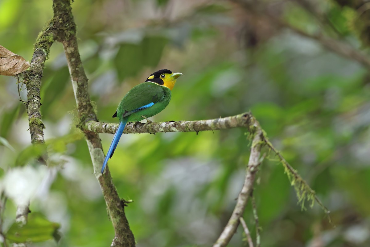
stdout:
MULTIPOLYGON (((228 128, 247 127, 256 123, 255 117, 249 112, 238 114, 231 117, 223 117, 209 120, 197 121, 170 121, 149 123, 144 126, 143 123, 128 123, 123 133, 158 133, 158 132, 190 132, 205 130, 222 130, 228 128)), ((118 124, 100 123, 97 121, 87 121, 84 125, 85 130, 96 133, 114 134, 118 124)))

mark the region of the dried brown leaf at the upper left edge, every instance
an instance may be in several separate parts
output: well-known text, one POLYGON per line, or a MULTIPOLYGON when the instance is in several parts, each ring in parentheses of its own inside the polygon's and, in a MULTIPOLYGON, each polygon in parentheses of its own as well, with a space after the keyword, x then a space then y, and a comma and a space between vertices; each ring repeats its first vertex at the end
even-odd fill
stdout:
POLYGON ((28 67, 30 63, 26 59, 0 46, 0 75, 15 76, 28 67))

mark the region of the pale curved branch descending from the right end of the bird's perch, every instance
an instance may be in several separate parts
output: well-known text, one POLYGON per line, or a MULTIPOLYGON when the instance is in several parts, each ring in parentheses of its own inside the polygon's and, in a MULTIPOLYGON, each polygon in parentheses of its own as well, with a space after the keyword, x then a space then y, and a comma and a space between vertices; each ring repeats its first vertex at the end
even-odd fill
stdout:
POLYGON ((236 228, 239 225, 240 217, 244 213, 245 206, 253 190, 253 184, 255 181, 258 166, 260 165, 260 151, 263 143, 263 131, 260 126, 256 123, 256 133, 254 134, 252 147, 250 148, 250 156, 248 167, 246 170, 246 176, 242 191, 240 191, 238 199, 236 200, 236 206, 231 214, 231 217, 223 229, 221 235, 217 239, 213 247, 225 247, 228 245, 231 237, 235 234, 236 228))

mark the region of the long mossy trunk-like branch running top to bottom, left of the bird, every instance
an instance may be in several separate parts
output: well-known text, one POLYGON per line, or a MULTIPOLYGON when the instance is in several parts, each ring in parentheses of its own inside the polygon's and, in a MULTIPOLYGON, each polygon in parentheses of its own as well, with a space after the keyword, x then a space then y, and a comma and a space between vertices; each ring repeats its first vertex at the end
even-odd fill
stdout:
MULTIPOLYGON (((68 69, 70 71, 80 121, 78 127, 81 128, 88 120, 97 121, 97 116, 91 104, 88 93, 88 79, 78 52, 76 24, 71 11, 70 0, 54 0, 53 2, 54 12, 58 15, 58 19, 55 19, 54 22, 58 30, 56 39, 63 44, 65 56, 67 57, 68 69)), ((94 173, 100 183, 104 200, 107 204, 108 214, 113 224, 115 236, 111 246, 134 247, 135 238, 125 216, 125 201, 121 200, 118 196, 108 167, 104 174, 99 172, 104 160, 104 153, 99 135, 84 128, 81 129, 84 131, 92 164, 94 166, 94 173)))

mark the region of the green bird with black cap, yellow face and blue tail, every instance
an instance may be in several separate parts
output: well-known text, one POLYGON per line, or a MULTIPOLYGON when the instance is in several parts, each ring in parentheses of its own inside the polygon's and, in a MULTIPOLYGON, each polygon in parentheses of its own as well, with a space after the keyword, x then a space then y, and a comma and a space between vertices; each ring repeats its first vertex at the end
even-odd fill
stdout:
POLYGON ((168 106, 171 100, 171 90, 175 86, 176 79, 181 75, 182 73, 172 73, 171 70, 167 69, 158 70, 151 74, 145 82, 133 87, 123 97, 117 111, 112 116, 118 117, 120 124, 114 134, 107 156, 105 156, 101 173, 104 173, 108 160, 113 156, 127 122, 146 119, 147 123, 145 124, 151 123, 148 118, 160 113, 168 106))

